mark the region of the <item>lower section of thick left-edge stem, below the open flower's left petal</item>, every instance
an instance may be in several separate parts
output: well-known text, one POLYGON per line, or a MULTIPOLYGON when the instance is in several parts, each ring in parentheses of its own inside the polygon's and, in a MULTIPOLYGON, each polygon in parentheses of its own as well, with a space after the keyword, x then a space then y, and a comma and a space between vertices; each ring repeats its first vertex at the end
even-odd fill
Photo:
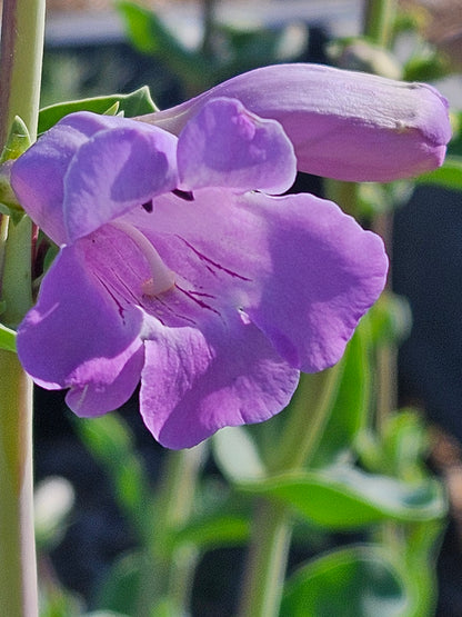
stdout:
POLYGON ((32 502, 32 385, 0 350, 0 614, 38 615, 32 502))

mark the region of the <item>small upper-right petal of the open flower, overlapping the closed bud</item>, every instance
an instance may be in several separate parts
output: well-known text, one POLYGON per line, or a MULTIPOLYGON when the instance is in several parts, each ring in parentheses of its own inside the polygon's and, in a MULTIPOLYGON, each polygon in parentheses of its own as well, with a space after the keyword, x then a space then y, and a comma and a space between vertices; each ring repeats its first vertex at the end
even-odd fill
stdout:
POLYGON ((214 99, 181 131, 178 167, 185 190, 281 193, 293 185, 297 159, 281 125, 258 118, 238 100, 214 99))

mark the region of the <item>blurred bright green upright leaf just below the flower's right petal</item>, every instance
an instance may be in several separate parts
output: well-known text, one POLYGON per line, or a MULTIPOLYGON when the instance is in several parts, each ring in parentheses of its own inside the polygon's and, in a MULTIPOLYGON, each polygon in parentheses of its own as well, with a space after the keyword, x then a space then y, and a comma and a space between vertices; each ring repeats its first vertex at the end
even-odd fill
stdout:
POLYGON ((366 421, 371 388, 368 329, 365 320, 360 324, 341 360, 344 366, 340 386, 314 466, 330 464, 345 452, 366 421))

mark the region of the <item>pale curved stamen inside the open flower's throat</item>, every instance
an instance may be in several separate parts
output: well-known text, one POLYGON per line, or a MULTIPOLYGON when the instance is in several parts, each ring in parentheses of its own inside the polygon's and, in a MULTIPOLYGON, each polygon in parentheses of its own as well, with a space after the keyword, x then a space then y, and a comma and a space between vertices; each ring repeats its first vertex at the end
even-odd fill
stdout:
POLYGON ((159 296, 171 289, 174 286, 174 272, 165 266, 161 256, 148 238, 139 229, 128 222, 118 220, 112 221, 111 225, 123 231, 123 233, 127 233, 127 236, 133 240, 149 265, 152 278, 142 282, 141 291, 147 296, 159 296))

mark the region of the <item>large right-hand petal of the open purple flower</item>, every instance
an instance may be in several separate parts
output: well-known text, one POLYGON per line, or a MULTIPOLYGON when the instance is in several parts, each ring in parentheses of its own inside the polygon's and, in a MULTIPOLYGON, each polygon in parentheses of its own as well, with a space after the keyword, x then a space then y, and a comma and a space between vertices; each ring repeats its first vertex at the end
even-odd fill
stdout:
POLYGON ((244 310, 283 358, 313 372, 342 357, 383 290, 388 258, 381 238, 335 203, 295 195, 278 206, 248 196, 267 221, 271 269, 259 272, 262 292, 244 310))

